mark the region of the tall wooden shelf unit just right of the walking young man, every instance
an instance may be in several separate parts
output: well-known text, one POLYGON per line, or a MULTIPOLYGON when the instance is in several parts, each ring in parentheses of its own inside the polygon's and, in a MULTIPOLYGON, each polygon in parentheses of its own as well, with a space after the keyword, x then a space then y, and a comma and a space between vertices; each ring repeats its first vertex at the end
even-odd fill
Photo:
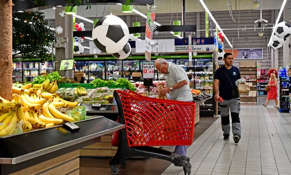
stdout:
POLYGON ((257 61, 240 61, 241 77, 253 76, 254 80, 247 80, 251 88, 248 93, 240 93, 242 105, 257 105, 257 61))

